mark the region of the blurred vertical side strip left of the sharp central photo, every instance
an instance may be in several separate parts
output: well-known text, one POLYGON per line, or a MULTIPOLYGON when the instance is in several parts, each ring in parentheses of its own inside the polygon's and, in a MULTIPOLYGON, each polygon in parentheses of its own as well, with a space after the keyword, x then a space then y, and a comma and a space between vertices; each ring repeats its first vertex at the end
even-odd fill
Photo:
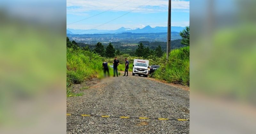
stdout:
POLYGON ((66 133, 66 1, 0 2, 0 133, 66 133))

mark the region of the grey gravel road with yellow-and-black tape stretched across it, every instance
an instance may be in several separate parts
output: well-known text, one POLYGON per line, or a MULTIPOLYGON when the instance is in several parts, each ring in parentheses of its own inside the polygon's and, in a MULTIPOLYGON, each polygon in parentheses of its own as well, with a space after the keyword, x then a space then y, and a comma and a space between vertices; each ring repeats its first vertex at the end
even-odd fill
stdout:
MULTIPOLYGON (((139 76, 110 77, 73 90, 83 96, 67 98, 67 113, 189 119, 189 91, 139 76)), ((189 133, 189 121, 67 116, 67 133, 189 133)))

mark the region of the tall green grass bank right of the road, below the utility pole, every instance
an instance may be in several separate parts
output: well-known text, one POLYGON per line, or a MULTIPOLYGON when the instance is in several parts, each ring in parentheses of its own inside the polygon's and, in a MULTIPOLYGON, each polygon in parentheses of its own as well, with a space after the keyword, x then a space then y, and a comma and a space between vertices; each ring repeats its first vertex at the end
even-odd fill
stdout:
POLYGON ((165 59, 166 54, 162 57, 162 66, 153 77, 189 86, 189 46, 172 50, 167 62, 165 59))

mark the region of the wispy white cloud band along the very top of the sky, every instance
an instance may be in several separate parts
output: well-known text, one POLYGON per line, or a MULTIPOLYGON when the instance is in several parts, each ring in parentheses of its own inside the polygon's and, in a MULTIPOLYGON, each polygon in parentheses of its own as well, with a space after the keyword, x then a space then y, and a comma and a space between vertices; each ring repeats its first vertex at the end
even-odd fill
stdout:
MULTIPOLYGON (((86 12, 92 10, 106 11, 117 5, 123 4, 128 0, 67 0, 67 13, 86 12)), ((149 0, 132 0, 112 11, 131 11, 149 0)), ((189 11, 189 1, 172 0, 172 10, 174 11, 189 11)), ((168 0, 152 0, 144 6, 136 9, 133 12, 163 12, 168 11, 168 0)))

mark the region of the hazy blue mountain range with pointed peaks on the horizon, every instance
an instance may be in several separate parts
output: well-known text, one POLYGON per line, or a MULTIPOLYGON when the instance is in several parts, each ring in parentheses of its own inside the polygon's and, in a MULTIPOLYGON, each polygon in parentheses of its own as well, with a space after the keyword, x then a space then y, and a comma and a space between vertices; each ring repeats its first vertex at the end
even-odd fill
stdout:
MULTIPOLYGON (((180 27, 180 26, 171 26, 171 31, 172 32, 180 32, 184 29, 185 27, 180 27)), ((132 30, 131 28, 125 28, 121 27, 117 30, 97 30, 97 29, 91 29, 91 30, 81 30, 81 29, 67 29, 67 34, 105 34, 105 33, 163 33, 167 32, 167 26, 156 26, 156 27, 151 27, 151 26, 145 26, 144 28, 137 28, 132 30), (79 33, 80 32, 80 33, 79 33)))

